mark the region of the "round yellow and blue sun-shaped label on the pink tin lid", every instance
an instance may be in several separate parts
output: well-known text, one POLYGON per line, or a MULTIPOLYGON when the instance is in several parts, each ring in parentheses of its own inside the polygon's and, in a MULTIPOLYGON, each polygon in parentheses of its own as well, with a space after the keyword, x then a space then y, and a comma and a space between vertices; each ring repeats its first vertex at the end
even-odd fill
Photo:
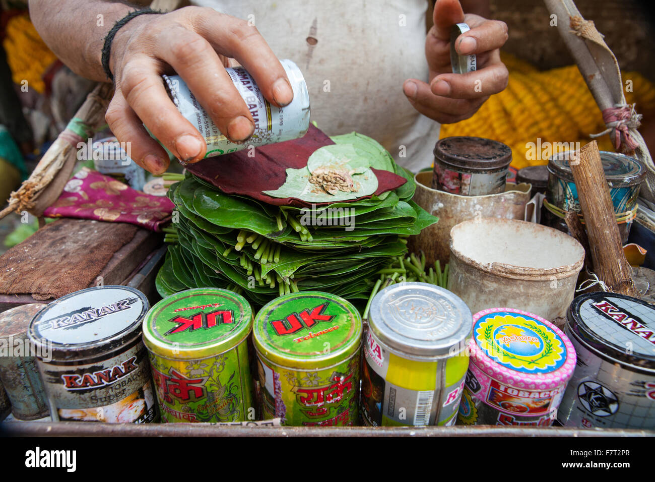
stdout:
POLYGON ((477 345, 503 367, 522 373, 549 373, 564 365, 567 349, 550 327, 527 315, 495 311, 474 325, 477 345))

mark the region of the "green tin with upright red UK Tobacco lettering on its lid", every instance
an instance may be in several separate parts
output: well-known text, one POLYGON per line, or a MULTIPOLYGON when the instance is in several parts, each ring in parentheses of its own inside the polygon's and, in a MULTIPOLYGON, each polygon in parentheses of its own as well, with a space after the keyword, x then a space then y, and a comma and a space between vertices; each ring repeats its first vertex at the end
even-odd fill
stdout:
POLYGON ((291 426, 356 425, 362 317, 318 291, 272 300, 255 317, 260 407, 291 426))

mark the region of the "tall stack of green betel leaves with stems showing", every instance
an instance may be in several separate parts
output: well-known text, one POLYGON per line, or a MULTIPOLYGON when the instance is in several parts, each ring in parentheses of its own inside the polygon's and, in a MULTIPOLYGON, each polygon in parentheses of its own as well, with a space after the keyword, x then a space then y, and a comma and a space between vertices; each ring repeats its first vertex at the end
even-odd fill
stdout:
POLYGON ((411 201, 413 176, 377 142, 360 134, 332 140, 351 144, 375 159, 371 165, 407 182, 379 196, 316 208, 312 220, 308 210, 227 195, 187 173, 168 191, 179 218, 165 229, 172 244, 157 275, 159 293, 221 287, 259 305, 307 290, 367 299, 378 272, 407 252, 405 238, 437 218, 411 201))

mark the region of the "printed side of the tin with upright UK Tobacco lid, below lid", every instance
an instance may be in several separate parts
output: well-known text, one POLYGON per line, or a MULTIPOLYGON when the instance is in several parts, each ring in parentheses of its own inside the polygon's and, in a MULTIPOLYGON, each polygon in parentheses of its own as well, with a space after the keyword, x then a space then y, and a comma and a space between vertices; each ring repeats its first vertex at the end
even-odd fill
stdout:
POLYGON ((267 420, 290 426, 357 424, 360 353, 335 367, 295 371, 279 367, 257 353, 260 406, 267 420))

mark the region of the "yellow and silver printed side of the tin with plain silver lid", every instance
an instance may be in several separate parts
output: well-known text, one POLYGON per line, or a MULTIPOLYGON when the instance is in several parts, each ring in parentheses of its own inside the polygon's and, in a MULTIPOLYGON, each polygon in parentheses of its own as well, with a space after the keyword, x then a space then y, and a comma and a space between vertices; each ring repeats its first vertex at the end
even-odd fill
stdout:
POLYGON ((362 366, 362 417, 369 426, 451 425, 462 396, 468 357, 412 361, 385 350, 370 331, 362 366), (460 363, 457 363, 460 362, 460 363), (400 386, 408 371, 424 372, 424 386, 400 386))

